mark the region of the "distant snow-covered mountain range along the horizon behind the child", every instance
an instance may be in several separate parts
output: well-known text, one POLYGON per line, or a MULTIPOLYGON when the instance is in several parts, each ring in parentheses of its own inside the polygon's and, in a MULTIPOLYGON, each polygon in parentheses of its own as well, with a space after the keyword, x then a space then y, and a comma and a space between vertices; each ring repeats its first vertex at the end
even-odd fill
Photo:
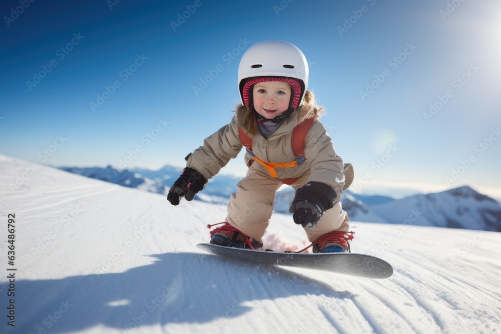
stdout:
MULTIPOLYGON (((171 166, 148 169, 116 170, 106 168, 70 168, 63 170, 164 194, 179 176, 181 169, 171 166)), ((214 204, 227 204, 236 191, 239 177, 218 174, 209 180, 195 199, 214 204)), ((294 189, 287 187, 275 198, 275 212, 289 214, 294 189)), ((501 206, 495 200, 464 186, 436 194, 417 195, 403 199, 343 193, 342 204, 350 219, 373 223, 406 223, 424 226, 454 227, 501 231, 501 206), (419 210, 413 213, 413 210, 419 210)))

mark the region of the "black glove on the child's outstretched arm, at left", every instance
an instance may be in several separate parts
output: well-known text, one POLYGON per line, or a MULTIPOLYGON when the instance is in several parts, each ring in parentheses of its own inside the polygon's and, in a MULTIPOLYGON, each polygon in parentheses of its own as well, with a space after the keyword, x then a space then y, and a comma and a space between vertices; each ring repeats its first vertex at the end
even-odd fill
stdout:
POLYGON ((167 194, 167 200, 172 205, 178 205, 181 198, 191 201, 197 192, 203 189, 207 180, 193 168, 184 168, 181 176, 174 182, 167 194))

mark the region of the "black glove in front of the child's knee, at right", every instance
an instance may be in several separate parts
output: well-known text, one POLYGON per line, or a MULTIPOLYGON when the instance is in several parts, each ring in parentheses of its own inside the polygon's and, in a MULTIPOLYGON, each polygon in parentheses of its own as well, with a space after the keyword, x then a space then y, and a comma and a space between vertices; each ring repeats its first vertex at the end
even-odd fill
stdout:
POLYGON ((308 182, 296 190, 289 212, 294 213, 296 224, 313 228, 322 219, 325 211, 332 208, 335 199, 336 192, 327 184, 308 182))

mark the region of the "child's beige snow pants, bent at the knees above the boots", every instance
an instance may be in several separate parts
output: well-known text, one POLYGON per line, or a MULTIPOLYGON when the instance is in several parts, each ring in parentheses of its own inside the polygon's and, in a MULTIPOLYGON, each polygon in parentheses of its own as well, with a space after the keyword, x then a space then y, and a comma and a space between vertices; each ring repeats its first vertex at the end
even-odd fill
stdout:
MULTIPOLYGON (((309 174, 303 175, 294 187, 306 184, 309 174)), ((273 213, 275 193, 282 186, 280 179, 250 167, 247 175, 237 183, 237 191, 228 203, 226 221, 254 240, 262 241, 273 213)), ((327 210, 314 228, 305 228, 310 242, 332 231, 348 231, 350 219, 341 207, 341 199, 327 210)), ((291 216, 291 224, 294 224, 291 216)))

